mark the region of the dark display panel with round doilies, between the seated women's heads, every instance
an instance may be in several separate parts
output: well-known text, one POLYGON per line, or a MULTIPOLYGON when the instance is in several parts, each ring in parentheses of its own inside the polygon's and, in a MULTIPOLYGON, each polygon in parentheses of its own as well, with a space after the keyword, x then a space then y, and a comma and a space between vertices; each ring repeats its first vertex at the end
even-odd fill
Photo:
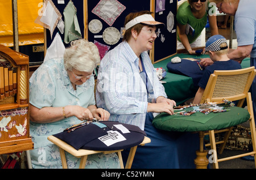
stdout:
POLYGON ((87 0, 86 37, 99 48, 101 58, 122 42, 125 17, 130 12, 152 11, 152 0, 87 0))

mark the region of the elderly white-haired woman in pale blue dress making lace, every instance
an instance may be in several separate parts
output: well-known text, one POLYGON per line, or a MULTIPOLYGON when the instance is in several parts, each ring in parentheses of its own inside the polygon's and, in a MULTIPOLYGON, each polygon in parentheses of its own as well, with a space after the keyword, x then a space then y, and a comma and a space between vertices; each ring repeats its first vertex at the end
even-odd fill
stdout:
MULTIPOLYGON (((30 151, 32 168, 62 168, 59 148, 49 135, 81 123, 109 119, 109 112, 97 108, 94 100, 94 68, 100 63, 97 46, 86 40, 71 42, 63 59, 45 61, 30 78, 30 151)), ((80 159, 66 154, 68 168, 78 168, 80 159)), ((119 168, 114 153, 88 156, 86 168, 119 168)))

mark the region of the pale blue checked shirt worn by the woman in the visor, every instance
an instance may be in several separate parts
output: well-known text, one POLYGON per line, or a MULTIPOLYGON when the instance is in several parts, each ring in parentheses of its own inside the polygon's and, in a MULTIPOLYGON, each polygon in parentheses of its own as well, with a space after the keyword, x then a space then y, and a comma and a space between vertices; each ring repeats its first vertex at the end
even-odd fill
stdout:
POLYGON ((141 54, 154 95, 147 94, 146 85, 139 75, 139 58, 124 41, 110 50, 98 70, 96 104, 110 113, 110 121, 139 126, 144 130, 147 103, 166 96, 147 52, 141 54))

